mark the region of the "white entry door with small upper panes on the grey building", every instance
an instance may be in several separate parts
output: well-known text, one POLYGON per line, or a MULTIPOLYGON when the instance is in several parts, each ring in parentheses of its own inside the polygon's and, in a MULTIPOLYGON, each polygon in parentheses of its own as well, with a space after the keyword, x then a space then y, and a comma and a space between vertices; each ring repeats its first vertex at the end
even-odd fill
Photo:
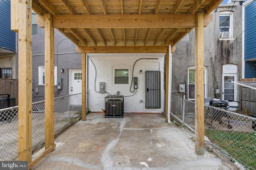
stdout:
MULTIPOLYGON (((82 93, 82 70, 69 70, 69 78, 69 94, 82 93)), ((82 105, 82 95, 79 94, 72 96, 70 104, 82 105)))

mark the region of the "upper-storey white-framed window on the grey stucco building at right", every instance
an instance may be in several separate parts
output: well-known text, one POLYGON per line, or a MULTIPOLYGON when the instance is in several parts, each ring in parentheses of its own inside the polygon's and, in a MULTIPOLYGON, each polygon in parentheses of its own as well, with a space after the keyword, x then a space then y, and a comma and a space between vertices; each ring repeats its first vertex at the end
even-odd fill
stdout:
POLYGON ((220 39, 232 38, 233 33, 233 12, 220 12, 219 25, 220 39))

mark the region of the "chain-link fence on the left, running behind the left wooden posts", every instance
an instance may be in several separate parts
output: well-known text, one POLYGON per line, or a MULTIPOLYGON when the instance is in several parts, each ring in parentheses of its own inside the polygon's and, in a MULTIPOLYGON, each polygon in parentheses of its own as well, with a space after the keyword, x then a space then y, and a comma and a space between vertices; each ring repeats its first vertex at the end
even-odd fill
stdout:
MULTIPOLYGON (((54 135, 82 115, 82 94, 54 99, 54 135)), ((32 103, 32 153, 44 145, 44 101, 32 103)), ((0 161, 18 158, 18 106, 0 109, 0 161)))

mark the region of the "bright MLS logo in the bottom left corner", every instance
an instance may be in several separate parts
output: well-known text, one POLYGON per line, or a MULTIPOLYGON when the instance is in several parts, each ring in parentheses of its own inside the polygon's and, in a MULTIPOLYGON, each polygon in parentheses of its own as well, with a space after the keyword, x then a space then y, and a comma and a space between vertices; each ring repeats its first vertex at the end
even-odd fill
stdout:
POLYGON ((0 161, 1 170, 27 170, 28 161, 0 161))

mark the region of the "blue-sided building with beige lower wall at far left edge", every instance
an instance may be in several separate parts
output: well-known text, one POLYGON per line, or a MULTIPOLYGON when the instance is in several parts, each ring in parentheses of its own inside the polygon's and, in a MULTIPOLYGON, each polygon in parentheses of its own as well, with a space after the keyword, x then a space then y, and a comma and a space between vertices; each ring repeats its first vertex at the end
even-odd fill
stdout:
POLYGON ((10 0, 0 1, 0 78, 15 79, 16 33, 10 29, 10 0))

